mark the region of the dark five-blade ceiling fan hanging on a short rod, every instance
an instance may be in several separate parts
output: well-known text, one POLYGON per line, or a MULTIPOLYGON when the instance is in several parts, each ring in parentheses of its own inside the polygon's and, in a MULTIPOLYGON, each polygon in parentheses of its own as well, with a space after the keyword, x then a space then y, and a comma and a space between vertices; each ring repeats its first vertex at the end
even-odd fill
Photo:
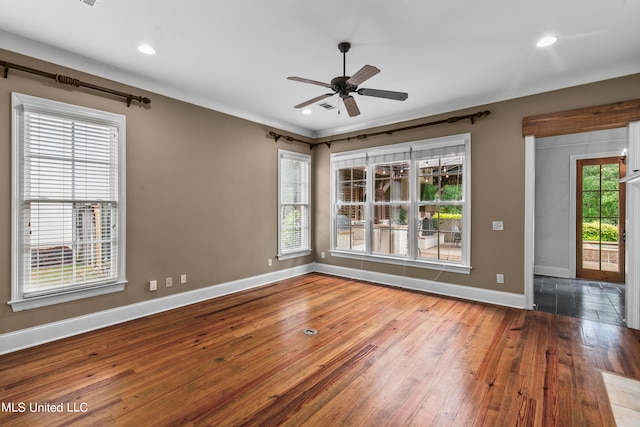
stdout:
POLYGON ((396 101, 404 101, 409 96, 405 92, 393 92, 390 90, 380 90, 380 89, 366 89, 360 88, 358 86, 371 77, 375 76, 380 72, 377 67, 372 65, 365 65, 360 70, 358 70, 353 76, 347 76, 347 52, 351 48, 351 43, 342 42, 338 44, 338 49, 342 52, 342 76, 338 76, 331 80, 331 83, 323 83, 316 80, 304 79, 302 77, 287 77, 288 80, 293 80, 296 82, 302 83, 310 83, 313 85, 323 86, 328 89, 333 90, 333 93, 325 93, 324 95, 317 96, 313 99, 305 101, 301 104, 296 105, 294 108, 303 108, 307 105, 311 105, 315 102, 318 102, 322 99, 329 98, 330 96, 335 95, 336 93, 340 95, 342 101, 344 102, 344 106, 347 109, 347 113, 349 113, 349 117, 354 117, 360 114, 360 109, 358 108, 358 104, 356 104, 356 100, 352 93, 357 93, 363 96, 375 96, 377 98, 386 98, 386 99, 394 99, 396 101))

